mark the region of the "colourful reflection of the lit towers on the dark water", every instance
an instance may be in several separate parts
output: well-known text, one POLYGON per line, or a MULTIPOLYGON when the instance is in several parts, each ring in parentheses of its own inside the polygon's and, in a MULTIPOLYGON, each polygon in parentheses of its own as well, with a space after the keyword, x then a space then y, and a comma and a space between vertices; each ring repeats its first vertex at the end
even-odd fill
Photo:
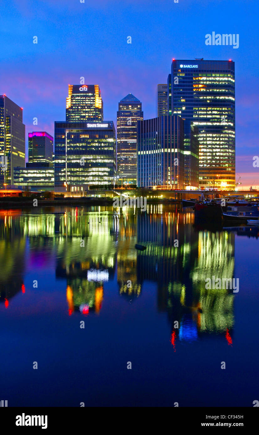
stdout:
POLYGON ((13 296, 24 294, 28 268, 54 261, 69 315, 100 314, 108 281, 117 281, 125 303, 138 303, 153 281, 174 348, 178 340, 208 333, 232 343, 235 295, 205 290, 205 278, 234 276, 235 234, 258 238, 258 228, 244 228, 195 227, 192 211, 161 204, 146 213, 109 207, 2 211, 0 301, 11 309, 13 296), (146 250, 137 251, 136 243, 146 250))

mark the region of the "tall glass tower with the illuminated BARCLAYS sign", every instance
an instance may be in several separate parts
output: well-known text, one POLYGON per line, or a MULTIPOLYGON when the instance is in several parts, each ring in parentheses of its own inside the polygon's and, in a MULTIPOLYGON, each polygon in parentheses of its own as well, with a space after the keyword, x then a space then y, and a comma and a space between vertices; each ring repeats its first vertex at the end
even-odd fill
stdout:
MULTIPOLYGON (((191 179, 191 125, 198 127, 199 185, 235 188, 235 64, 231 60, 173 60, 172 114, 185 122, 185 184, 191 179), (189 174, 189 176, 188 176, 189 174)), ((169 102, 169 97, 168 97, 169 102)), ((168 103, 169 104, 169 103, 168 103)), ((169 107, 168 107, 169 108, 169 107)))

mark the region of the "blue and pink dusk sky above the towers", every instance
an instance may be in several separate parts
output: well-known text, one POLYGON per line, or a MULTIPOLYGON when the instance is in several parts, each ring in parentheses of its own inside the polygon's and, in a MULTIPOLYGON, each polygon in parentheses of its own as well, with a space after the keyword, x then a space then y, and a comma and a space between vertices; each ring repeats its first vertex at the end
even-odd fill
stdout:
POLYGON ((236 172, 241 187, 259 187, 259 168, 252 167, 259 155, 258 10, 258 0, 5 0, 0 94, 24 108, 27 147, 29 131, 54 135, 54 121, 65 120, 68 84, 81 76, 99 84, 104 120, 116 125, 118 102, 130 92, 144 119, 156 116, 156 86, 167 83, 173 57, 232 59, 236 172), (213 31, 239 33, 239 48, 205 45, 213 31))

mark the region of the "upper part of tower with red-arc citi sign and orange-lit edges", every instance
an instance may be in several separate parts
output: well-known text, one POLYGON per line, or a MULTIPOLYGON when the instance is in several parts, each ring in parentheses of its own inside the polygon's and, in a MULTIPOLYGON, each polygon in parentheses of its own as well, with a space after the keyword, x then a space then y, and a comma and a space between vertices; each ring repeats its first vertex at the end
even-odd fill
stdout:
POLYGON ((68 85, 67 122, 100 122, 104 120, 103 100, 98 84, 68 85))

